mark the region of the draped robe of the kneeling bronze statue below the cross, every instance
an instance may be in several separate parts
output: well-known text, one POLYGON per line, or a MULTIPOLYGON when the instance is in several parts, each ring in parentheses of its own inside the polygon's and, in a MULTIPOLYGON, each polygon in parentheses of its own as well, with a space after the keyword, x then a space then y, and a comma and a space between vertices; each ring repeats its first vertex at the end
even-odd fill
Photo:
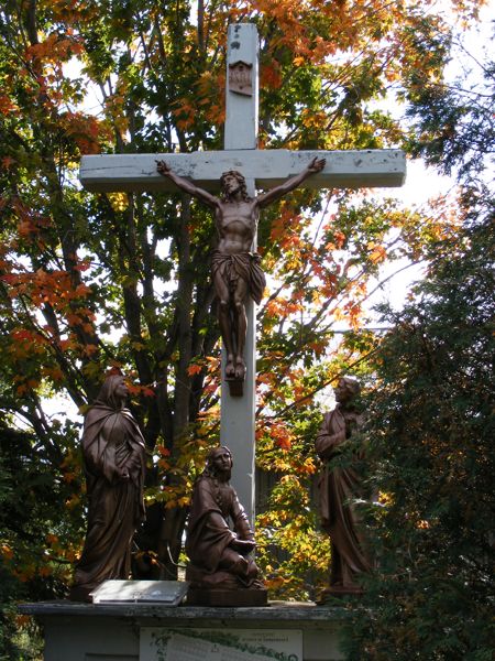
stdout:
MULTIPOLYGON (((229 545, 237 538, 252 540, 253 532, 235 490, 229 484, 218 484, 213 477, 201 476, 193 495, 186 553, 194 568, 205 574, 204 579, 212 586, 217 582, 224 583, 224 575, 229 574, 226 556, 232 554, 229 545), (229 518, 233 531, 229 528, 229 518)), ((237 581, 248 587, 253 584, 257 568, 251 559, 246 559, 244 575, 235 574, 237 581)))

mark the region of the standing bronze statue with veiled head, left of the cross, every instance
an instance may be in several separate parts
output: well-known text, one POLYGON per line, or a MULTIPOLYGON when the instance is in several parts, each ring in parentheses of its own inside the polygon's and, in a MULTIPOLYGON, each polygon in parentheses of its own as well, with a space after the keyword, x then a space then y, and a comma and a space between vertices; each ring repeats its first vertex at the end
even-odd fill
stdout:
POLYGON ((109 578, 129 578, 131 542, 144 519, 144 440, 125 400, 122 375, 107 377, 85 418, 81 445, 88 494, 85 545, 76 565, 73 600, 109 578))

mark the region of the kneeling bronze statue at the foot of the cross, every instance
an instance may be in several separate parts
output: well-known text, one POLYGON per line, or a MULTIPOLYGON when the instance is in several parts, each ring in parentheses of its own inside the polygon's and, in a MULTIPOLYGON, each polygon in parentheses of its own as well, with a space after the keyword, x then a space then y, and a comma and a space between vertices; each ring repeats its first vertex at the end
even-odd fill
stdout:
POLYGON ((264 590, 250 557, 255 548, 254 534, 229 484, 231 472, 230 449, 216 447, 208 454, 206 468, 194 488, 186 538, 190 560, 186 578, 193 590, 264 590))

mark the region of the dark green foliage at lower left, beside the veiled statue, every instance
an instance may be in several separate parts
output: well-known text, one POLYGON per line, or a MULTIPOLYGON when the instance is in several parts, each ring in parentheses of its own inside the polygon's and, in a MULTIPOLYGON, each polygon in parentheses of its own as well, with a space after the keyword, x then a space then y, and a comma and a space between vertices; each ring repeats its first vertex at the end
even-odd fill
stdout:
MULTIPOLYGON (((64 430, 58 434, 65 447, 64 430)), ((72 500, 75 480, 79 481, 68 472, 55 476, 35 436, 0 418, 1 659, 38 658, 38 629, 18 616, 15 603, 65 594, 81 532, 80 514, 75 516, 78 503, 72 500), (19 624, 23 636, 15 633, 19 624)))

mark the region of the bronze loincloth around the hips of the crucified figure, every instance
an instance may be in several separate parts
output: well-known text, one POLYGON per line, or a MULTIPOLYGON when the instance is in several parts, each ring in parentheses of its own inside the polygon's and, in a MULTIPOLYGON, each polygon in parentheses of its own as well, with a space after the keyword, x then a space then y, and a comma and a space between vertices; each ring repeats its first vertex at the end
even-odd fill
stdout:
POLYGON ((211 274, 213 282, 217 274, 228 284, 229 291, 234 292, 239 279, 248 284, 248 292, 253 301, 260 304, 266 286, 265 274, 260 267, 261 257, 255 252, 237 252, 226 254, 215 250, 211 256, 211 274))

